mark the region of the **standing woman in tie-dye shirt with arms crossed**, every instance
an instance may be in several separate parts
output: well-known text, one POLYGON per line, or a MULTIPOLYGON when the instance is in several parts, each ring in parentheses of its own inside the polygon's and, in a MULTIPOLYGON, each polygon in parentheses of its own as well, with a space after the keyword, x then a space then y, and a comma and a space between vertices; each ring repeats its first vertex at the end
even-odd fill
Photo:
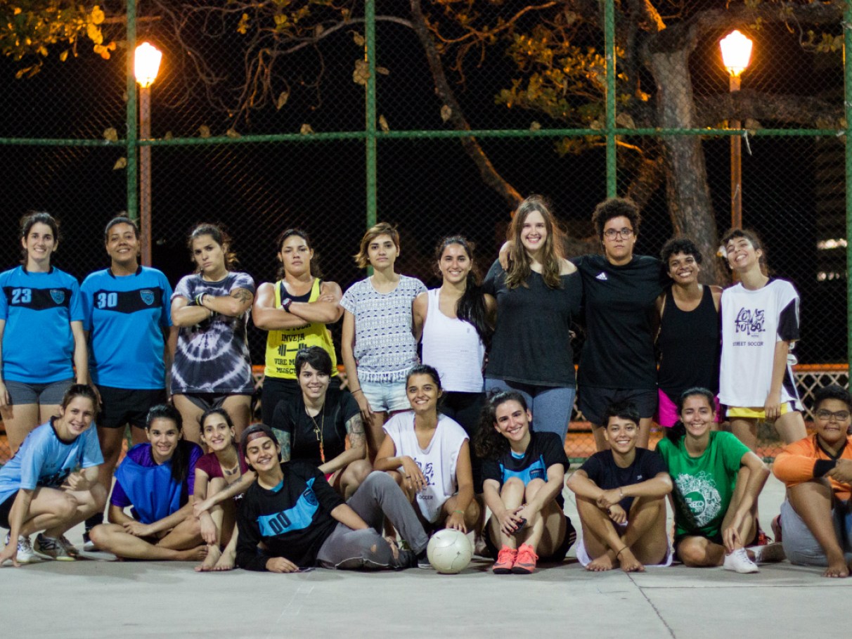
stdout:
POLYGON ((185 437, 199 443, 199 418, 222 406, 239 433, 249 423, 251 360, 245 325, 255 282, 234 271, 231 239, 213 224, 201 224, 189 236, 196 272, 178 282, 171 300, 171 317, 181 330, 171 392, 183 417, 185 437))

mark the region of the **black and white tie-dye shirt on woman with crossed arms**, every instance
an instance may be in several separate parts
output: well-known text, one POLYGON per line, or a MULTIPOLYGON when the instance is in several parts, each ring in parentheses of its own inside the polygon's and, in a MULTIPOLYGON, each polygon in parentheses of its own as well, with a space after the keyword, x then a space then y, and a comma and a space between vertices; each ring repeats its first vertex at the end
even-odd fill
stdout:
MULTIPOLYGON (((225 279, 207 282, 193 273, 178 282, 172 299, 185 297, 194 303, 201 293, 229 296, 236 289, 255 292, 248 273, 227 273, 225 279)), ((172 393, 252 393, 249 343, 245 325, 250 309, 239 317, 215 313, 210 320, 194 326, 181 326, 177 337, 175 362, 171 366, 172 393)))

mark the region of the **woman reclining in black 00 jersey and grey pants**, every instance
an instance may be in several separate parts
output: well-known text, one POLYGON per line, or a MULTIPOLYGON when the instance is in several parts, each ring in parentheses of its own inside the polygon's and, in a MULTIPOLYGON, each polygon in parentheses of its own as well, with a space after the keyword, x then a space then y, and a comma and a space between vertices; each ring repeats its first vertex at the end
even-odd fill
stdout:
POLYGON ((281 463, 272 429, 252 424, 242 449, 257 480, 237 515, 237 565, 247 570, 297 573, 302 568, 406 568, 428 566, 429 542, 400 487, 371 473, 344 503, 315 466, 281 463), (379 533, 387 515, 412 550, 379 533))

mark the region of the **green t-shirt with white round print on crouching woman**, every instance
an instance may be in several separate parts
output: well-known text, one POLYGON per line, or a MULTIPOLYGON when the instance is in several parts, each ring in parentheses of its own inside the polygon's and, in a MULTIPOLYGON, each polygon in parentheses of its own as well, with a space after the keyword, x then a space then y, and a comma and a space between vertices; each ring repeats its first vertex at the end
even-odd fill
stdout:
POLYGON ((675 484, 675 536, 717 537, 749 448, 730 433, 712 431, 704 454, 689 457, 685 439, 673 444, 664 438, 657 445, 675 484))

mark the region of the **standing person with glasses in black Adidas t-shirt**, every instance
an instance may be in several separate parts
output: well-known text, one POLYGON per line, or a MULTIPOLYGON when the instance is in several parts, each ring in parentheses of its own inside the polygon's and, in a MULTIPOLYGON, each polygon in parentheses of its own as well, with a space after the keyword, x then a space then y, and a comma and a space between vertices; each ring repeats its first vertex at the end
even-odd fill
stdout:
POLYGON ((658 259, 633 254, 641 216, 631 200, 603 201, 591 221, 604 254, 575 262, 583 278, 586 326, 577 377, 579 410, 592 423, 602 451, 607 448, 604 411, 615 401, 630 401, 640 417, 636 446, 647 448, 657 408, 656 302, 665 273, 658 259))

